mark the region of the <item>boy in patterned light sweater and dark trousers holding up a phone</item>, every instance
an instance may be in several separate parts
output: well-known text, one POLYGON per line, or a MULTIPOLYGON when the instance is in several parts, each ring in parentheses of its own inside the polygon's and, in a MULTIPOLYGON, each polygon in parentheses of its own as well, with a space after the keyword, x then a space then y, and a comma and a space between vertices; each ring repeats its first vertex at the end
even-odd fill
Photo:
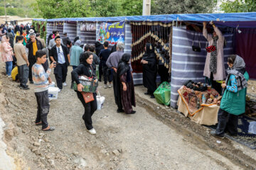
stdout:
POLYGON ((53 131, 55 128, 48 125, 47 122, 47 115, 50 109, 48 98, 48 77, 50 76, 51 69, 55 67, 55 62, 50 64, 47 72, 45 72, 42 66, 45 62, 46 52, 38 50, 36 52, 36 64, 33 64, 32 67, 33 84, 35 86, 35 95, 38 104, 36 125, 42 125, 43 131, 53 131))

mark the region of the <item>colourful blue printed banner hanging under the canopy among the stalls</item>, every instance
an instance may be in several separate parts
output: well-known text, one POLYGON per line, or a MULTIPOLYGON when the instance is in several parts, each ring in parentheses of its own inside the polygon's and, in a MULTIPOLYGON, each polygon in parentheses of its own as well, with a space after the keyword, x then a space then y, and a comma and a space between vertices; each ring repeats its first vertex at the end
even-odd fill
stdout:
POLYGON ((101 43, 108 41, 110 45, 124 43, 124 21, 118 23, 101 23, 97 40, 101 43))

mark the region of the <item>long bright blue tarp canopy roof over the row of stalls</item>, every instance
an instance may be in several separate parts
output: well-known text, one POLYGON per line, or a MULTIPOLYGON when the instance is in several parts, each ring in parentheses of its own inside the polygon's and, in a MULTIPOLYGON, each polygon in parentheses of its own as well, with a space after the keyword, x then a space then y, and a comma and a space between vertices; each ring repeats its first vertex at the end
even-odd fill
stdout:
MULTIPOLYGON (((46 21, 44 19, 33 19, 34 21, 46 21)), ((256 12, 252 13, 187 13, 169 14, 156 16, 114 16, 114 17, 88 17, 88 18, 53 18, 49 22, 55 21, 218 21, 223 26, 236 27, 238 24, 244 28, 256 27, 256 12)))

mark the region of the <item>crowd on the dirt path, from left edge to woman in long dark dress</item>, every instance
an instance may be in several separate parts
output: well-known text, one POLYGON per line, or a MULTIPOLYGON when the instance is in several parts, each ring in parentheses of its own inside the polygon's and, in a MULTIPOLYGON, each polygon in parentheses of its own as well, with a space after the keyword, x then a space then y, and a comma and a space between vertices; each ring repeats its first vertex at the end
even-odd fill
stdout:
POLYGON ((95 42, 95 45, 82 45, 79 37, 71 42, 67 33, 63 33, 60 38, 58 30, 54 30, 46 43, 33 26, 27 29, 27 26, 10 27, 6 24, 0 28, 0 50, 2 61, 6 64, 6 76, 11 77, 12 70, 18 67, 16 81, 19 82, 19 88, 29 90, 28 81, 34 85, 38 105, 35 124, 41 125, 43 131, 55 130, 53 126, 48 125, 47 121, 50 108, 48 85, 52 83, 50 72, 53 68, 56 86, 60 92, 63 86, 68 85, 66 83, 68 66, 73 67, 72 83, 78 84, 78 90, 75 91, 85 108, 82 119, 91 134, 96 133, 92 126, 92 114, 97 110, 96 93, 93 93, 93 101, 85 103, 85 98, 82 96, 83 86, 78 77, 83 75, 90 79, 97 79, 97 65, 100 69, 99 81, 102 76, 104 77, 104 88, 112 88, 113 81, 117 113, 135 113, 132 108, 136 104, 131 55, 124 54, 122 42, 118 42, 110 50, 108 42, 104 42, 103 45, 100 42, 95 42))

